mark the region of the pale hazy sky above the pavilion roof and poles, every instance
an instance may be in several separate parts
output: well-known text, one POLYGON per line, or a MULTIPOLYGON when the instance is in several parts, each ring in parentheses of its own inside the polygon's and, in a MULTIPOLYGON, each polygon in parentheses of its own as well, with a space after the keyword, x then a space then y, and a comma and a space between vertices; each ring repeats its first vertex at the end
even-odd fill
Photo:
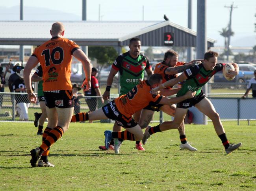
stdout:
MULTIPOLYGON (((237 8, 232 16, 235 36, 232 37, 231 44, 256 45, 256 0, 207 0, 208 36, 217 40, 215 45, 224 44, 218 31, 228 25, 230 13, 224 5, 230 6, 232 2, 237 8)), ((19 3, 20 0, 0 1, 0 20, 19 20, 19 3)), ((24 20, 45 20, 46 9, 53 12, 52 20, 82 20, 82 0, 23 0, 23 3, 24 20), (59 18, 58 13, 66 13, 66 16, 61 15, 59 18)), ((172 22, 187 27, 187 4, 188 0, 87 0, 87 20, 142 20, 144 5, 144 20, 161 21, 166 14, 172 22)), ((192 5, 192 29, 196 31, 197 0, 192 0, 192 5)))

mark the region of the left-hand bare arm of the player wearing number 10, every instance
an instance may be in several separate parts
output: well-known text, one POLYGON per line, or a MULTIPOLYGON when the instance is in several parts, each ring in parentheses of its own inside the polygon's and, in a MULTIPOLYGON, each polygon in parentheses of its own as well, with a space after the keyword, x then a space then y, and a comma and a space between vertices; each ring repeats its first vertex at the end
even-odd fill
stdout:
POLYGON ((26 87, 26 91, 28 93, 28 100, 30 103, 35 104, 37 102, 37 96, 33 93, 32 85, 31 85, 31 71, 38 64, 38 59, 35 56, 30 56, 28 62, 24 68, 24 83, 26 87))

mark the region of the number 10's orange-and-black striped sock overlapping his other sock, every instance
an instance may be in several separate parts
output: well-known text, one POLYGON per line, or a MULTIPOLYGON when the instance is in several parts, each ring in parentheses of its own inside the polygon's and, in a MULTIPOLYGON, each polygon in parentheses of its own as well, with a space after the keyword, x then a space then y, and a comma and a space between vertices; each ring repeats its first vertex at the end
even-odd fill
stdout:
POLYGON ((56 126, 48 133, 46 139, 41 144, 39 149, 42 151, 46 151, 52 144, 54 144, 61 136, 63 135, 64 130, 60 126, 56 126))

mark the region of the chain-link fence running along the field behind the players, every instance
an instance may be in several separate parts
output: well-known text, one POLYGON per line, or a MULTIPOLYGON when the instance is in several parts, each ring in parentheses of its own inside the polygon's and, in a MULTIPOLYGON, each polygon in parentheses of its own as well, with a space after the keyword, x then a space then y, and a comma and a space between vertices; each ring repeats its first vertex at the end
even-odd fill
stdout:
MULTIPOLYGON (((246 83, 208 83, 208 98, 211 99, 217 112, 220 113, 221 120, 254 120, 256 118, 247 113, 256 113, 256 107, 250 107, 255 100, 252 94, 246 99, 249 103, 247 111, 241 111, 244 100, 240 102, 241 96, 244 95, 247 88, 246 83), (239 102, 239 104, 237 104, 239 102), (242 104, 242 105, 241 105, 242 104), (226 112, 225 108, 228 108, 226 112), (242 113, 241 113, 242 112, 242 113)), ((109 101, 117 98, 118 95, 111 95, 109 101)), ((108 101, 108 102, 109 102, 108 101)), ((75 104, 74 113, 94 111, 107 104, 102 104, 99 96, 83 96, 75 104)), ((247 104, 248 104, 247 103, 247 104)), ((0 120, 1 121, 17 121, 17 120, 34 120, 34 113, 41 113, 39 103, 29 104, 27 94, 24 93, 0 93, 0 120)), ((171 116, 160 112, 155 112, 152 122, 163 122, 172 120, 171 116)), ((113 120, 100 120, 100 122, 113 122, 113 120)))

